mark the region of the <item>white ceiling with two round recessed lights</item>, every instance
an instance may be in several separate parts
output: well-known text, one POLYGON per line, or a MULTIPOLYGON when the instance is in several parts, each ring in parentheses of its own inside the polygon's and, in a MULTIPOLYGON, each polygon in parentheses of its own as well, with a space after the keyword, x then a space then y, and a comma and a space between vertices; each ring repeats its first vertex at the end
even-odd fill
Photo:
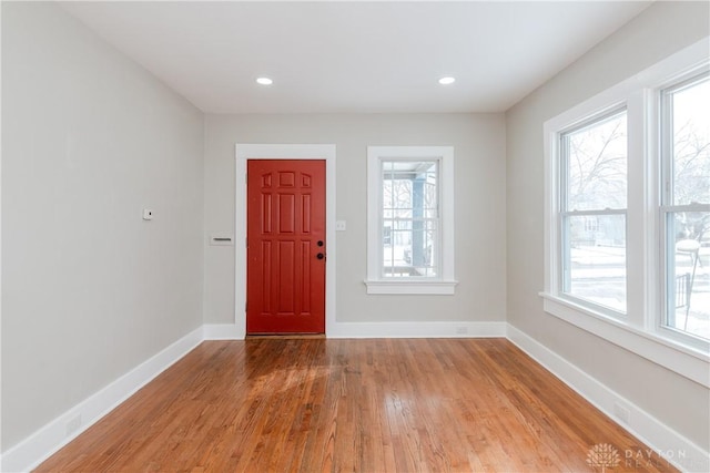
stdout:
POLYGON ((384 113, 505 111, 649 2, 62 6, 204 112, 384 113))

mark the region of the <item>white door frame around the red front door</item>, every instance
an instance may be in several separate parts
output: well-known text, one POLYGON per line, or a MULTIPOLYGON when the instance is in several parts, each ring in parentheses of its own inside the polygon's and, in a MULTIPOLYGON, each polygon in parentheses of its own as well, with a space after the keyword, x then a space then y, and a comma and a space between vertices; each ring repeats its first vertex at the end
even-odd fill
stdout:
POLYGON ((325 160, 325 333, 335 327, 335 145, 236 144, 234 186, 234 326, 236 338, 246 337, 246 161, 325 160))

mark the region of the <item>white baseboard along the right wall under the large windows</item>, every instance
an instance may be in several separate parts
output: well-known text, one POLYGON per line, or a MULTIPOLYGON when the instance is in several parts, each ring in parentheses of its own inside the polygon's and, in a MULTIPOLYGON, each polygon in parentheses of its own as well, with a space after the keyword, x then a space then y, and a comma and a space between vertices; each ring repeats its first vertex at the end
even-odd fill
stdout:
MULTIPOLYGON (((582 398, 611 418, 621 428, 650 446, 653 452, 628 452, 640 464, 670 462, 684 472, 710 471, 710 454, 678 432, 607 388, 559 354, 537 340, 508 325, 507 338, 529 354, 535 361, 559 378, 565 384, 577 391, 582 398), (629 411, 625 422, 615 415, 615 407, 621 405, 629 411)), ((590 448, 592 445, 589 445, 590 448)), ((619 452, 623 462, 627 452, 619 452)))

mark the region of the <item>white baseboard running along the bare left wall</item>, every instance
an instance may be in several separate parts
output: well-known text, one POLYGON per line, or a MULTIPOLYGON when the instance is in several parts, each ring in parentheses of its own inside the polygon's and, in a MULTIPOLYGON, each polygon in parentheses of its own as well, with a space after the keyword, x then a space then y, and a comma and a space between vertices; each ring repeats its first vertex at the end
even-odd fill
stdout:
POLYGON ((27 472, 111 412, 203 340, 200 327, 74 405, 2 454, 0 471, 27 472), (71 425, 71 428, 70 428, 71 425))

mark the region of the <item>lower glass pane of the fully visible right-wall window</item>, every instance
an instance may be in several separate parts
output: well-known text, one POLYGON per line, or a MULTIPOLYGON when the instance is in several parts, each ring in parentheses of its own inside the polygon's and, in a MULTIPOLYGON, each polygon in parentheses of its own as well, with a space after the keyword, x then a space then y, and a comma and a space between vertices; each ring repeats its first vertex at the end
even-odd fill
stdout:
POLYGON ((564 232, 564 291, 626 312, 626 216, 568 216, 564 232))

